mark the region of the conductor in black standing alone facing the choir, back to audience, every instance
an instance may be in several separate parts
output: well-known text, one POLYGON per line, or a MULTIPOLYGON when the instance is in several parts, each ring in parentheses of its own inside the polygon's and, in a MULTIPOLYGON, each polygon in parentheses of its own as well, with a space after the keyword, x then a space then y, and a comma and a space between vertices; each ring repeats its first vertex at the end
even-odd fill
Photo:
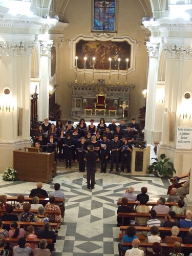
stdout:
POLYGON ((94 152, 94 146, 89 146, 90 151, 84 156, 84 161, 87 162, 87 182, 88 188, 94 189, 95 187, 95 173, 97 168, 97 162, 99 161, 99 156, 94 152), (91 179, 91 184, 90 184, 91 179))

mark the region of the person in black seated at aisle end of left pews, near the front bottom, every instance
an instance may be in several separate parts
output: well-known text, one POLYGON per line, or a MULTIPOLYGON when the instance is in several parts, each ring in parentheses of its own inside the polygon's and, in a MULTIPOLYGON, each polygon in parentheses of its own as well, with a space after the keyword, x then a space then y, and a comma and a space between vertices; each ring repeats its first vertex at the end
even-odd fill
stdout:
POLYGON ((37 238, 44 238, 44 239, 51 238, 53 243, 48 244, 47 248, 50 249, 51 252, 54 251, 54 243, 56 243, 56 234, 54 231, 50 230, 49 222, 46 222, 44 224, 44 229, 38 230, 37 238))

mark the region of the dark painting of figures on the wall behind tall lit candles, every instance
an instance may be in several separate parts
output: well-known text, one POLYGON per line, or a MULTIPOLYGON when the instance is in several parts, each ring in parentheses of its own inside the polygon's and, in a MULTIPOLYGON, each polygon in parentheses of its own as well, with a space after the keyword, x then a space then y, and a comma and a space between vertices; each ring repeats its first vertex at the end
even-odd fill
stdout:
POLYGON ((93 68, 93 57, 95 57, 96 70, 108 70, 109 58, 111 58, 111 69, 118 69, 118 58, 120 70, 126 70, 126 58, 129 58, 128 69, 131 63, 131 45, 127 41, 99 41, 99 40, 79 40, 75 46, 77 68, 84 68, 84 57, 87 57, 86 68, 93 68))

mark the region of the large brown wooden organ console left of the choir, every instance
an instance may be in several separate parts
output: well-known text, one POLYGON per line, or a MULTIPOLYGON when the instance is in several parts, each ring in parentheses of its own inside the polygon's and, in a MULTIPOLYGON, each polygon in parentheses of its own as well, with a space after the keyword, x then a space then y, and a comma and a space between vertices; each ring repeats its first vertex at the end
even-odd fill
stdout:
POLYGON ((13 151, 13 168, 19 180, 50 183, 54 161, 54 152, 13 151))

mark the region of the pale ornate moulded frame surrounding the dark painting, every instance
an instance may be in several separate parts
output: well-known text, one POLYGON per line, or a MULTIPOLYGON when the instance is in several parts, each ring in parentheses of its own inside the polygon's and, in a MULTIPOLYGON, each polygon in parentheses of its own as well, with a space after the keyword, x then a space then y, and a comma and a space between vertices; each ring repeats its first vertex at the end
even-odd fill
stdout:
MULTIPOLYGON (((95 40, 100 40, 100 41, 112 41, 112 42, 121 42, 121 41, 127 41, 131 45, 131 62, 130 62, 130 68, 128 69, 127 74, 130 74, 135 71, 135 63, 136 63, 136 53, 139 49, 140 42, 137 42, 137 40, 134 40, 130 36, 117 36, 116 33, 91 33, 90 36, 86 35, 77 35, 73 39, 66 39, 68 49, 71 50, 71 61, 70 61, 70 68, 75 71, 75 55, 76 55, 76 44, 80 40, 87 40, 87 41, 95 41, 95 40)), ((83 73, 83 69, 78 69, 77 68, 77 73, 83 73)), ((86 69, 86 73, 92 73, 92 69, 86 69)), ((103 74, 103 75, 108 75, 109 70, 95 70, 95 74, 103 74)), ((111 70, 111 74, 117 74, 117 70, 111 70)), ((126 75, 126 71, 120 70, 119 74, 121 75, 126 75)))

